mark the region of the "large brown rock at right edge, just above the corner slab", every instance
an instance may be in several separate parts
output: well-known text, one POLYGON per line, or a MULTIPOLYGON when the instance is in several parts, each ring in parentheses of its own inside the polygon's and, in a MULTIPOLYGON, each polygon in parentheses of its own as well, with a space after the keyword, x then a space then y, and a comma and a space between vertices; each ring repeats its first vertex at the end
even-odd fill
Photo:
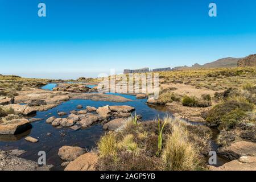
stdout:
POLYGON ((222 147, 218 154, 229 160, 239 159, 241 156, 256 156, 256 143, 240 141, 228 147, 222 147))

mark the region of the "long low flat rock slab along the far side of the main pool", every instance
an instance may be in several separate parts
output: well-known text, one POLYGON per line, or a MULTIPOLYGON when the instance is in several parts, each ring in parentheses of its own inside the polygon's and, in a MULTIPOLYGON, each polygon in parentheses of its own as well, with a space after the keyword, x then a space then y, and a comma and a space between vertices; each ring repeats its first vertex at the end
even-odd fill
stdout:
POLYGON ((109 102, 129 102, 132 101, 128 98, 122 96, 115 96, 112 94, 102 94, 102 93, 71 93, 69 94, 71 99, 84 99, 92 101, 109 101, 109 102))

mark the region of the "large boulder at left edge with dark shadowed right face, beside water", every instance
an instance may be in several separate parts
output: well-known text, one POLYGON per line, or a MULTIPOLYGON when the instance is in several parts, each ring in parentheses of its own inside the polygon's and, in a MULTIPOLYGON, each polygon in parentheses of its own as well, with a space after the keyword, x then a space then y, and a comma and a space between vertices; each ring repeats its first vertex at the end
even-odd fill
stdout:
POLYGON ((12 119, 4 123, 0 123, 0 135, 16 135, 31 129, 28 119, 12 119))

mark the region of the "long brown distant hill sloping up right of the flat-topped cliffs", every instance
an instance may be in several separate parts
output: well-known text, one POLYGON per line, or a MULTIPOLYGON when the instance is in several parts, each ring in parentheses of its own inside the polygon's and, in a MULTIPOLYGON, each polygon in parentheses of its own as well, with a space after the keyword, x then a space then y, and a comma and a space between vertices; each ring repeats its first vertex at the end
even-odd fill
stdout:
POLYGON ((211 63, 206 63, 204 65, 194 64, 192 67, 184 66, 184 67, 174 67, 172 70, 182 70, 182 69, 191 69, 191 68, 230 68, 237 67, 237 61, 241 58, 234 57, 226 57, 222 59, 218 59, 211 63))

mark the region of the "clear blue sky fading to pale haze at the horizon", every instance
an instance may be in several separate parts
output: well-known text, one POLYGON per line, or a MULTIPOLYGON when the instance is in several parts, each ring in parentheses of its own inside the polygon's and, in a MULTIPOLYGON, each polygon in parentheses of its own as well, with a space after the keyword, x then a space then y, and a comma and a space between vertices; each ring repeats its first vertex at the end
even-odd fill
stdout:
POLYGON ((0 74, 76 79, 256 53, 255 0, 0 0, 0 74), (46 4, 46 17, 38 4, 46 4), (209 3, 217 17, 208 15, 209 3))

